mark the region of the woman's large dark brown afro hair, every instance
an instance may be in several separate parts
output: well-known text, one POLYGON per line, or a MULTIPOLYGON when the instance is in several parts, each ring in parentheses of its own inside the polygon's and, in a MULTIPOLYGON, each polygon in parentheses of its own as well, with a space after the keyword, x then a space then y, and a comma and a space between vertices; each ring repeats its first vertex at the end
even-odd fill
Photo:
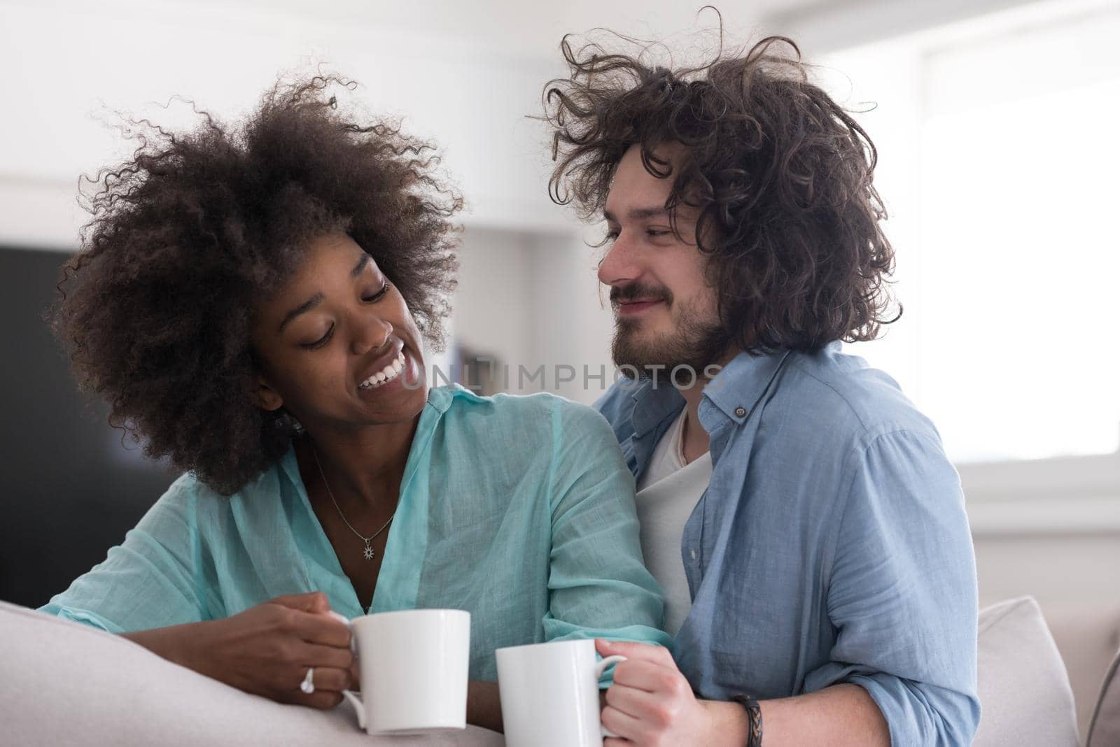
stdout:
POLYGON ((258 406, 250 331, 310 240, 348 234, 442 344, 461 198, 431 143, 339 110, 333 92, 354 87, 280 82, 234 126, 206 112, 187 133, 130 121, 138 148, 93 180, 93 217, 63 268, 53 322, 78 385, 148 456, 223 494, 298 428, 258 406))

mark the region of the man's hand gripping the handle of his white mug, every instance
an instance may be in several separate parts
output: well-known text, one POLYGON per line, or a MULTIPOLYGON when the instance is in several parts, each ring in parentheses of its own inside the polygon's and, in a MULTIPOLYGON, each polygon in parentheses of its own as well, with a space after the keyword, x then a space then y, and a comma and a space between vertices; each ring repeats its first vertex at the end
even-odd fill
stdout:
POLYGON ((622 654, 607 690, 603 726, 618 735, 604 747, 743 745, 746 711, 736 703, 698 700, 669 650, 646 643, 596 641, 604 656, 622 654))

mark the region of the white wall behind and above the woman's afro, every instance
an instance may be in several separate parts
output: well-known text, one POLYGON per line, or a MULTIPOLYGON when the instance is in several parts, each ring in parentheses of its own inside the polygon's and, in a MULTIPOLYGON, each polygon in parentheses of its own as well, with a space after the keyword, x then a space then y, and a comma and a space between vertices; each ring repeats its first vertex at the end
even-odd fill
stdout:
POLYGON ((280 72, 314 62, 357 79, 374 113, 407 115, 409 131, 439 142, 468 223, 571 228, 545 192, 543 131, 526 119, 554 59, 281 11, 110 0, 0 4, 0 242, 74 246, 77 174, 125 152, 103 122, 113 110, 186 124, 188 107, 148 105, 181 95, 235 119, 280 72))

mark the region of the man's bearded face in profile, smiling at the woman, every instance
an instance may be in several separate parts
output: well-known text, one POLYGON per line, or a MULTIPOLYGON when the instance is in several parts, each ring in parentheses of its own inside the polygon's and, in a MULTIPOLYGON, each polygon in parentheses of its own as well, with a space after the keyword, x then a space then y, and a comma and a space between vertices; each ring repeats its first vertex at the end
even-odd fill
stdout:
MULTIPOLYGON (((654 154, 672 163, 683 151, 662 146, 654 154)), ((665 210, 671 189, 672 178, 646 171, 634 145, 618 164, 604 210, 609 249, 599 264, 599 282, 610 286, 615 310, 612 356, 616 366, 633 366, 642 377, 660 378, 678 366, 691 367, 699 377, 729 348, 716 290, 704 274, 707 258, 694 244, 696 211, 676 208, 680 236, 674 235, 665 210)), ((678 376, 679 381, 688 378, 683 371, 678 376)))

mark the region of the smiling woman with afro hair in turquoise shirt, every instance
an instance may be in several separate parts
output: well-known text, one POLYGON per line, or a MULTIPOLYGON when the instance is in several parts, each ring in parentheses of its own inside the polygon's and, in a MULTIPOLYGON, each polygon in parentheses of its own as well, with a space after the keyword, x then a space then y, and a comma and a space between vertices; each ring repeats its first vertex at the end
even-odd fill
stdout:
POLYGON ((343 113, 353 86, 144 123, 100 174, 55 329, 111 422, 184 474, 43 611, 332 708, 356 665, 328 613, 467 609, 468 720, 501 728, 495 649, 665 644, 662 597, 597 413, 427 386, 461 199, 430 143, 343 113))

